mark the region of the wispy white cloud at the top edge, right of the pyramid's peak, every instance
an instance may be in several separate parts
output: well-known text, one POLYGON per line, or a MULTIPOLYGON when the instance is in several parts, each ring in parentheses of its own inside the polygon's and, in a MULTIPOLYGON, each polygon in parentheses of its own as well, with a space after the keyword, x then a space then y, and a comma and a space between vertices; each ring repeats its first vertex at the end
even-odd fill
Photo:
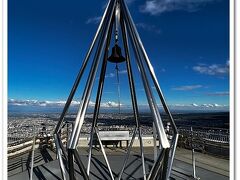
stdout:
POLYGON ((158 15, 164 12, 182 10, 194 12, 203 5, 216 0, 147 0, 140 11, 151 15, 158 15))

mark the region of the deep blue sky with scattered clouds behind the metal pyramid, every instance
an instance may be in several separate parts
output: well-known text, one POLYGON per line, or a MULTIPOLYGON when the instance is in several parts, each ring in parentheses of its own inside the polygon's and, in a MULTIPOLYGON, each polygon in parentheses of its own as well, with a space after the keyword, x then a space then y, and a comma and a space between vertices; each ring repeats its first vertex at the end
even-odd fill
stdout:
MULTIPOLYGON (((8 3, 9 103, 64 104, 107 1, 8 3)), ((167 103, 188 108, 228 107, 229 1, 127 3, 167 103)), ((120 71, 121 103, 129 105, 124 65, 120 71)), ((114 73, 114 65, 109 65, 102 99, 106 106, 117 102, 114 73)), ((140 78, 135 79, 139 103, 146 104, 140 78)), ((81 88, 76 102, 80 92, 81 88)), ((94 93, 91 101, 94 103, 94 93)))

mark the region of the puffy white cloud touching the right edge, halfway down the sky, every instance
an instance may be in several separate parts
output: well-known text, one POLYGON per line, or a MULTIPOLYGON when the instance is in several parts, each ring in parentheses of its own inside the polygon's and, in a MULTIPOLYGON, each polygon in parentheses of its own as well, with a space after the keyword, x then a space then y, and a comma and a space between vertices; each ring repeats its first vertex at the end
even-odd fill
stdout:
POLYGON ((229 61, 226 64, 199 64, 193 70, 200 74, 223 76, 229 73, 229 61))

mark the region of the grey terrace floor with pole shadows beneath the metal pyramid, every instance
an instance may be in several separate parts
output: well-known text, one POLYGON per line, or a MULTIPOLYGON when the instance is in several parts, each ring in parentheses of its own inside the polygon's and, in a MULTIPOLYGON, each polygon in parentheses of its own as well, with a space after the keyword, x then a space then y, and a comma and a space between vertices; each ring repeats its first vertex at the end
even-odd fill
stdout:
MULTIPOLYGON (((108 159, 113 170, 114 176, 120 171, 123 164, 124 149, 107 148, 108 159)), ((86 166, 87 164, 87 150, 81 149, 81 158, 86 166)), ((93 152, 91 179, 106 180, 110 179, 104 158, 98 149, 93 152)), ((145 149, 145 163, 146 171, 148 172, 153 164, 153 152, 151 148, 145 149)), ((9 180, 26 180, 29 179, 30 158, 25 154, 19 158, 9 160, 9 180), (14 164, 20 166, 14 166, 14 164), (20 163, 19 163, 20 162, 20 163)), ((186 149, 177 149, 174 160, 172 178, 174 179, 191 179, 192 165, 191 165, 191 151, 186 149)), ((35 153, 35 167, 33 179, 62 179, 58 161, 55 160, 55 153, 52 151, 39 150, 35 153)), ((202 153, 196 153, 196 174, 203 180, 227 180, 229 179, 229 161, 202 153)), ((77 167, 77 166, 76 166, 77 167)), ((76 176, 80 179, 80 173, 76 171, 76 176)), ((139 156, 139 149, 133 149, 130 159, 123 174, 123 179, 142 179, 142 163, 139 156)))

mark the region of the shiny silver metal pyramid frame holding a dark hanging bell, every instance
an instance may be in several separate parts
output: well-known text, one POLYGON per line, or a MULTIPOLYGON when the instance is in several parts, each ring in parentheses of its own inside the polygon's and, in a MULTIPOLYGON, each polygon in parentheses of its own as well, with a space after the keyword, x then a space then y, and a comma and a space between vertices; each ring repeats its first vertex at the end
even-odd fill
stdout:
POLYGON ((76 165, 81 171, 82 177, 84 179, 90 179, 91 172, 91 159, 92 159, 92 146, 93 146, 93 136, 94 134, 97 136, 99 141, 99 145, 101 147, 101 151, 103 157, 105 159, 107 169, 109 171, 109 178, 114 179, 122 179, 122 174, 126 168, 126 164, 128 158, 130 156, 131 148, 134 142, 136 135, 138 135, 140 142, 140 150, 141 150, 141 159, 142 159, 142 174, 144 180, 154 180, 154 179, 169 179, 171 168, 173 164, 175 149, 178 140, 178 131, 176 125, 174 123, 173 117, 168 109, 168 106, 164 100, 163 93, 160 89, 158 80, 156 78, 154 69, 150 63, 148 55, 144 49, 143 43, 139 37, 135 24, 131 18, 129 10, 126 6, 124 0, 109 0, 106 10, 103 14, 102 20, 99 24, 95 37, 92 41, 92 44, 86 54, 86 57, 83 61, 82 67, 77 75, 76 81, 72 87, 71 93, 67 99, 67 102, 64 106, 63 112, 60 116, 59 122, 56 126, 54 132, 55 145, 57 151, 57 157, 59 160, 62 177, 63 179, 74 180, 75 177, 75 167, 76 165), (115 28, 115 45, 112 48, 112 55, 109 55, 109 48, 112 39, 112 32, 115 28), (123 52, 124 56, 121 54, 121 48, 118 46, 118 29, 121 29, 121 37, 123 44, 123 52), (129 43, 130 41, 130 43, 129 43), (133 49, 134 58, 130 57, 130 47, 133 49), (72 132, 70 137, 68 138, 67 147, 65 148, 63 142, 60 138, 62 128, 66 125, 66 113, 70 107, 70 104, 73 100, 73 97, 76 93, 76 90, 80 84, 81 78, 83 76, 84 71, 86 70, 86 66, 89 63, 90 56, 93 56, 92 64, 90 66, 90 72, 87 77, 85 88, 83 90, 80 107, 74 122, 74 126, 72 128, 72 132), (133 61, 134 59, 135 61, 133 61), (154 136, 155 142, 156 138, 159 140, 159 148, 155 154, 154 164, 149 172, 145 170, 145 159, 144 159, 144 147, 142 142, 142 132, 141 132, 141 123, 139 120, 139 110, 137 103, 137 96, 135 92, 135 84, 134 84, 134 74, 132 71, 132 63, 136 64, 138 67, 142 83, 144 86, 144 91, 146 93, 146 97, 148 100, 148 105, 151 110, 151 114, 153 117, 154 126, 156 129, 156 135, 154 136), (102 63, 101 67, 99 64, 102 63), (105 153, 103 144, 101 142, 101 137, 99 135, 99 129, 97 127, 99 108, 101 103, 101 97, 104 87, 104 79, 106 74, 106 67, 108 63, 126 63, 127 67, 127 75, 128 82, 130 87, 131 94, 131 102, 133 107, 134 120, 136 123, 136 127, 134 129, 132 139, 128 146, 125 160, 122 168, 119 170, 119 174, 117 177, 114 177, 111 166, 108 162, 107 155, 105 153), (98 69, 100 68, 100 78, 96 79, 96 74, 98 69), (152 92, 152 87, 149 83, 150 74, 151 81, 154 83, 157 94, 160 98, 161 105, 163 110, 168 116, 168 120, 171 124, 173 136, 169 139, 165 133, 164 125, 162 122, 162 118, 159 112, 159 107, 157 105, 156 99, 152 92), (88 156, 88 164, 85 166, 81 160, 79 152, 77 150, 78 141, 80 137, 80 131, 82 125, 85 120, 86 110, 88 108, 88 104, 90 101, 90 96, 93 90, 93 84, 95 81, 98 81, 97 95, 94 106, 91 134, 90 134, 90 142, 89 142, 89 156, 88 156))

